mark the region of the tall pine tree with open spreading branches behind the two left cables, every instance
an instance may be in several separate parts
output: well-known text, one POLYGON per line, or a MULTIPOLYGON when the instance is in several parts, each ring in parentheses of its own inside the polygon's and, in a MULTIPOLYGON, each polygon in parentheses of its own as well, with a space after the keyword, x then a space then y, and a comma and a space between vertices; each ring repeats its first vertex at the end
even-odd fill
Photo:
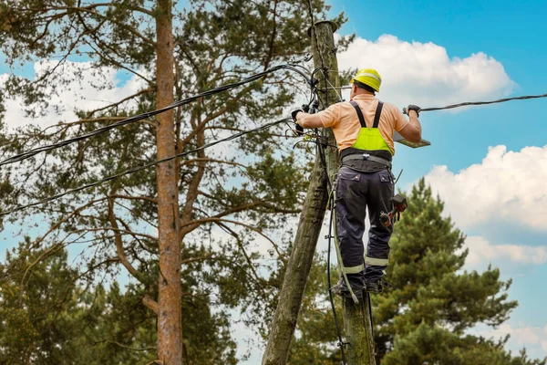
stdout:
MULTIPOLYGON (((314 0, 312 6, 319 18, 325 18, 324 1, 314 0)), ((342 17, 336 21, 341 23, 342 17)), ((159 90, 170 89, 170 81, 175 99, 183 99, 302 57, 309 45, 309 25, 308 4, 296 0, 2 2, 0 49, 7 64, 16 68, 21 62, 48 61, 35 79, 14 73, 1 87, 3 98, 22 97, 29 115, 40 115, 47 107, 63 108, 62 103, 49 105, 51 97, 66 92, 66 86, 81 77, 80 70, 69 62, 81 59, 78 57, 85 56, 88 63, 84 66, 105 81, 113 69, 128 72, 142 87, 127 99, 111 100, 103 108, 89 110, 82 103, 77 120, 63 120, 46 131, 40 125, 9 130, 9 141, 3 143, 0 156, 26 151, 36 143, 80 136, 155 110, 167 100, 159 97, 159 90), (164 30, 169 21, 173 28, 168 35, 164 30), (160 24, 162 36, 156 34, 160 24), (169 64, 161 68, 161 62, 171 57, 160 57, 157 62, 159 47, 170 39, 174 42, 174 68, 169 64), (170 75, 161 73, 161 81, 157 71, 171 69, 170 75)), ((111 87, 106 82, 96 86, 111 87)), ((172 151, 189 151, 227 133, 280 119, 294 95, 304 88, 303 81, 294 75, 271 74, 181 107, 172 120, 141 120, 52 151, 46 159, 38 155, 16 166, 5 166, 0 171, 0 210, 155 161, 160 143, 172 151), (171 122, 172 139, 157 135, 160 127, 171 122)), ((163 94, 168 95, 169 90, 163 94)), ((189 297, 206 302, 218 298, 219 308, 244 308, 243 312, 253 315, 243 319, 257 328, 270 315, 276 290, 275 277, 271 280, 263 275, 270 267, 263 267, 265 261, 259 259, 268 259, 273 267, 283 266, 288 239, 273 242, 270 253, 263 255, 253 245, 253 237, 269 235, 284 226, 286 214, 298 213, 302 201, 299 192, 305 186, 303 163, 294 158, 293 143, 284 140, 283 132, 284 127, 277 127, 249 135, 226 150, 201 151, 170 165, 174 166, 178 196, 172 197, 177 195, 176 190, 172 192, 168 213, 180 216, 170 223, 180 228, 181 286, 187 287, 189 297), (214 229, 225 233, 222 239, 212 238, 214 229)), ((88 249, 83 250, 81 259, 91 271, 85 279, 92 282, 104 275, 115 279, 119 270, 124 270, 139 282, 142 303, 157 313, 159 286, 163 284, 160 277, 166 274, 165 267, 160 270, 155 265, 160 253, 165 253, 157 235, 159 195, 165 189, 160 189, 157 175, 162 173, 153 169, 126 175, 7 219, 22 224, 38 213, 46 220, 50 229, 36 238, 33 249, 54 252, 86 242, 88 249)), ((165 204, 160 205, 165 208, 165 204)), ((167 241, 172 243, 172 235, 167 241)), ((177 250, 172 249, 170 256, 176 257, 177 250)), ((173 266, 171 274, 178 269, 173 266)), ((23 277, 22 282, 26 279, 23 277)), ((191 307, 189 310, 182 314, 182 328, 191 330, 191 323, 184 321, 198 317, 192 315, 191 307)), ((186 339, 184 343, 187 353, 198 350, 197 344, 186 339)))

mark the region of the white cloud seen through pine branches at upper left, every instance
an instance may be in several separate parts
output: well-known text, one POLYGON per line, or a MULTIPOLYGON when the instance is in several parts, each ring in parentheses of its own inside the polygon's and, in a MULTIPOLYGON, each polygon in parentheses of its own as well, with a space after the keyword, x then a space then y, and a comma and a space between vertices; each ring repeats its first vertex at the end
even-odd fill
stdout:
MULTIPOLYGON (((43 74, 48 68, 55 67, 56 64, 56 61, 48 60, 36 62, 36 75, 43 74)), ((44 117, 35 120, 29 119, 25 116, 22 99, 6 99, 4 120, 7 126, 15 128, 28 123, 36 123, 46 127, 59 121, 74 121, 77 120, 74 110, 94 110, 107 106, 137 93, 145 86, 142 79, 134 76, 122 86, 117 87, 120 79, 115 68, 101 68, 99 70, 91 66, 90 62, 68 61, 63 69, 59 70, 66 73, 76 73, 78 77, 68 82, 67 85, 63 85, 64 91, 59 95, 51 92, 51 99, 49 99, 51 107, 46 110, 44 117), (101 77, 101 74, 104 77, 101 77), (60 113, 57 113, 53 106, 61 106, 60 113)), ((5 82, 5 79, 7 79, 7 75, 1 74, 0 82, 5 82)))

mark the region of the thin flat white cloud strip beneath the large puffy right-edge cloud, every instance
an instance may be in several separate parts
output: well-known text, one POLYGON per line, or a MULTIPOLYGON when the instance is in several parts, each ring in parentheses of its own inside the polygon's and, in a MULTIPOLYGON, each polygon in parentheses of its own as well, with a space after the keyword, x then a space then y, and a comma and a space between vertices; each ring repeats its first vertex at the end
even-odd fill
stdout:
POLYGON ((466 264, 471 266, 501 260, 534 265, 547 263, 547 245, 490 245, 483 237, 473 235, 466 238, 465 248, 469 249, 466 264))

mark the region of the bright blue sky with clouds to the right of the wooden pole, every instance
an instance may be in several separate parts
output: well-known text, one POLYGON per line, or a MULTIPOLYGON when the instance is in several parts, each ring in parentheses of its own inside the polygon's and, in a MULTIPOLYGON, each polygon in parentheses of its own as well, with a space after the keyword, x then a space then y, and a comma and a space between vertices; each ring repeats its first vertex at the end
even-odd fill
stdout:
MULTIPOLYGON (((454 89, 454 95, 443 94, 442 100, 436 102, 435 92, 446 80, 429 80, 425 87, 414 88, 423 79, 431 78, 427 60, 422 63, 420 72, 416 71, 416 62, 412 61, 408 67, 405 59, 394 59, 394 66, 387 68, 385 59, 383 63, 377 62, 379 56, 371 53, 369 43, 363 42, 361 53, 367 56, 352 66, 386 69, 380 72, 385 89, 381 89, 379 99, 390 101, 389 97, 393 96, 398 101, 396 105, 403 107, 430 94, 427 104, 419 104, 427 108, 446 105, 443 101, 448 99, 455 103, 547 93, 547 49, 542 47, 547 31, 544 20, 547 2, 348 0, 329 3, 333 5, 332 15, 345 11, 349 16, 338 32, 341 35, 355 32, 358 38, 375 43, 376 52, 387 49, 382 48, 383 42, 378 39, 385 35, 395 36, 401 49, 416 48, 416 52, 420 52, 419 47, 413 47, 417 43, 430 42, 444 47, 450 61, 479 53, 493 58, 502 68, 491 78, 490 85, 495 84, 495 79, 503 78, 503 73, 511 80, 510 83, 502 81, 500 85, 505 82, 505 86, 500 89, 488 89, 489 82, 485 82, 488 90, 484 92, 454 89), (393 78, 408 78, 411 82, 398 82, 393 78), (391 84, 386 85, 389 81, 391 84)), ((393 51, 393 47, 389 50, 393 51)), ((359 52, 359 49, 351 50, 354 58, 359 52)), ((344 57, 339 55, 339 62, 344 57)), ((433 69, 437 64, 431 65, 433 69)), ((447 70, 449 68, 450 65, 447 70)), ((484 68, 488 67, 470 70, 467 78, 479 75, 484 68)), ((447 76, 450 78, 449 71, 447 76)), ((480 85, 468 86, 480 89, 480 85)), ((547 294, 542 290, 547 278, 544 257, 547 212, 533 210, 534 206, 547 203, 547 184, 543 183, 547 177, 546 108, 547 99, 534 99, 450 112, 424 112, 420 116, 422 135, 432 145, 420 150, 401 146, 395 162, 397 171, 405 170, 399 187, 408 188, 419 177, 428 175, 428 183, 447 201, 447 214, 470 236, 468 248, 474 250, 474 255, 467 268, 482 270, 491 263, 500 267, 502 278, 513 280, 509 294, 511 299, 519 301, 519 308, 501 328, 478 328, 478 331, 495 336, 510 333, 508 349, 526 346, 534 357, 547 356, 547 314, 542 310, 547 303, 547 294), (489 154, 490 147, 495 146, 506 146, 505 152, 494 149, 489 154), (532 146, 537 149, 522 150, 532 146), (487 155, 489 158, 483 161, 487 155), (497 183, 500 181, 503 183, 497 183), (492 197, 483 198, 490 191, 500 194, 501 202, 495 202, 492 197), (467 201, 458 202, 459 194, 460 200, 467 201), (525 208, 535 217, 534 223, 522 218, 525 208), (476 222, 474 217, 482 218, 476 222)))

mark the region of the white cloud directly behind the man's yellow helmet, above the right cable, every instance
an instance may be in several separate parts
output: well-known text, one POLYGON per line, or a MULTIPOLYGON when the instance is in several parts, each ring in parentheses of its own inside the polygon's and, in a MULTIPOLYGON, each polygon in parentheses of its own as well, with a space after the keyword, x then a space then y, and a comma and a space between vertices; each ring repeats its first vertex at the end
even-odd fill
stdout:
POLYGON ((498 98, 515 87, 501 63, 482 52, 450 58, 445 47, 389 35, 377 41, 356 37, 338 54, 338 68, 376 68, 382 76, 378 97, 399 107, 498 98))

